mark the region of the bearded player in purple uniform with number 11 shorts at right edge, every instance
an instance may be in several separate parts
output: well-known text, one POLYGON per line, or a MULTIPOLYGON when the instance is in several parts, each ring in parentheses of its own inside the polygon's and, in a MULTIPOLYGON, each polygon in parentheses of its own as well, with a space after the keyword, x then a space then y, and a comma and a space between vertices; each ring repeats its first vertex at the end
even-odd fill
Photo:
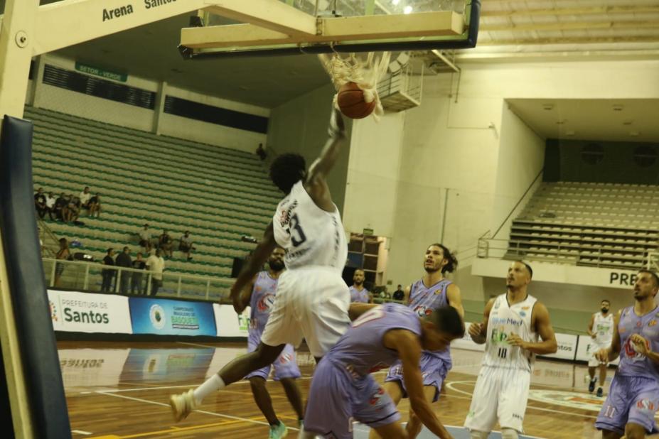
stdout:
POLYGON ((618 354, 620 364, 611 381, 595 426, 603 439, 645 438, 657 433, 655 413, 659 410, 659 306, 655 297, 659 278, 641 270, 634 283, 634 305, 618 311, 611 346, 596 353, 601 362, 618 354))

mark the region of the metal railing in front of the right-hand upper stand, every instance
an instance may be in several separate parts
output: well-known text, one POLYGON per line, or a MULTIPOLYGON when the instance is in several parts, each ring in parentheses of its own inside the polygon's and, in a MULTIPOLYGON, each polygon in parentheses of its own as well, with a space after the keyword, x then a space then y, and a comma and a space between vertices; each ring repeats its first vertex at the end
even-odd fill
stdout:
POLYGON ((587 243, 542 242, 538 244, 519 239, 478 239, 478 258, 527 258, 555 261, 560 264, 596 267, 628 266, 629 269, 639 269, 649 267, 652 263, 659 264, 659 254, 655 252, 654 259, 652 259, 652 254, 653 251, 626 249, 623 246, 613 249, 611 246, 587 243))

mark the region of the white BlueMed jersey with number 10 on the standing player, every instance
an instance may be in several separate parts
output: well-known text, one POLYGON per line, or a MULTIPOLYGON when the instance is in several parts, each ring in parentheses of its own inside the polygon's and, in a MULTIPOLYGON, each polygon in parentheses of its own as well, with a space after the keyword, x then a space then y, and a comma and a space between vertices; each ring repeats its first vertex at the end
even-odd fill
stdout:
POLYGON ((488 319, 483 366, 523 369, 530 372, 535 362, 535 354, 510 345, 508 337, 510 334, 516 334, 525 342, 537 342, 537 333, 531 327, 531 315, 536 301, 536 298, 527 296, 519 303, 508 305, 506 294, 494 300, 488 319))

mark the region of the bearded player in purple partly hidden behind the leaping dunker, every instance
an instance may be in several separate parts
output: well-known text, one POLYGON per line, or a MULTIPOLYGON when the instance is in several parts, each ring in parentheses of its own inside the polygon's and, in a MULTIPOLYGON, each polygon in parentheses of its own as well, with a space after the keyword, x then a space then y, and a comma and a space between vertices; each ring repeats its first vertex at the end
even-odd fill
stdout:
MULTIPOLYGON (((247 305, 250 305, 252 310, 250 315, 250 335, 247 338, 247 352, 254 352, 261 341, 261 335, 277 293, 277 281, 279 280, 279 276, 284 272, 284 256, 286 256, 286 251, 282 247, 277 246, 268 259, 269 269, 257 274, 240 296, 240 312, 247 305)), ((286 396, 297 413, 298 420, 301 422, 302 418, 304 418, 302 396, 295 382, 295 379, 299 378, 301 374, 295 361, 295 350, 293 347, 286 345, 282 354, 279 355, 279 358, 277 358, 272 366, 274 367, 275 381, 281 382, 282 386, 284 386, 286 396)), ((269 438, 279 439, 286 437, 288 429, 284 426, 284 423, 279 421, 277 415, 274 414, 272 400, 265 386, 269 374, 270 366, 266 366, 252 372, 245 376, 245 378, 250 380, 254 400, 270 425, 269 438)))

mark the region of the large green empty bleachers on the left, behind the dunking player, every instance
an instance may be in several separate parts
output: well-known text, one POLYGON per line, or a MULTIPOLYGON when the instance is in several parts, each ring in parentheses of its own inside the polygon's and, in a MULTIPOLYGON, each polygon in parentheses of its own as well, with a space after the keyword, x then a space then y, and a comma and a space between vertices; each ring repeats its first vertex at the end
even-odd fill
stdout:
POLYGON ((88 185, 100 193, 100 219, 83 214, 82 227, 48 222, 58 237, 79 239, 97 260, 107 248, 124 245, 134 256, 144 223, 154 239, 163 230, 174 239, 189 230, 193 260, 175 245, 166 271, 225 278, 227 285, 232 258, 254 246, 242 236, 259 236, 279 199, 263 163, 250 153, 33 107, 25 117, 35 125, 35 188, 77 196, 88 185))

